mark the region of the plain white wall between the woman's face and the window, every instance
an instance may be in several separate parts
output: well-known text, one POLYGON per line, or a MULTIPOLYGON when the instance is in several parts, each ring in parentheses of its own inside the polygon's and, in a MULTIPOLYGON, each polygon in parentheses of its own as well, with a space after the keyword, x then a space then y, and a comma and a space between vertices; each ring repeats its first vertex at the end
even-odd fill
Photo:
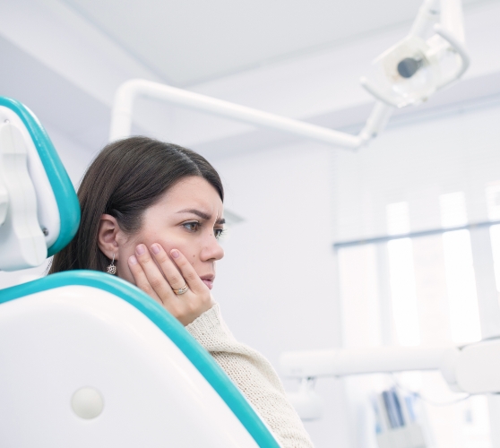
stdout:
MULTIPOLYGON (((331 246, 332 155, 303 143, 215 163, 226 206, 245 221, 223 243, 214 296, 237 338, 278 370, 284 350, 341 344, 331 246)), ((341 382, 320 381, 318 391, 327 403, 325 416, 306 424, 315 444, 349 446, 341 382)))

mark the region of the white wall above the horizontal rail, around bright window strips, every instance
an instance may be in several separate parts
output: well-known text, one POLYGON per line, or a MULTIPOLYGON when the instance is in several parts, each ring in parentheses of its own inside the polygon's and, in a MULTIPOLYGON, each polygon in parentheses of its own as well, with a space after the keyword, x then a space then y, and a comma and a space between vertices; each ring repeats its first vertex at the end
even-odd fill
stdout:
POLYGON ((439 194, 463 191, 470 222, 487 220, 485 187, 500 180, 500 98, 390 127, 358 153, 336 152, 337 240, 384 235, 385 205, 408 201, 411 230, 440 227, 439 194))

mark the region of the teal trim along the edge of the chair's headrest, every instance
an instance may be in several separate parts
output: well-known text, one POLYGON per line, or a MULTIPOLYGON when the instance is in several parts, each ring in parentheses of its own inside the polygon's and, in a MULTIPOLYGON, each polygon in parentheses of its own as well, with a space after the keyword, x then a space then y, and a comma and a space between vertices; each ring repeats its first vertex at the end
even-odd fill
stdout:
POLYGON ((54 244, 47 247, 47 256, 51 256, 63 249, 76 234, 80 225, 80 203, 63 162, 59 159, 47 131, 40 124, 38 118, 29 108, 15 99, 0 97, 0 106, 10 108, 22 119, 22 123, 28 129, 35 147, 39 151, 43 168, 47 172, 48 181, 56 196, 61 229, 54 244))

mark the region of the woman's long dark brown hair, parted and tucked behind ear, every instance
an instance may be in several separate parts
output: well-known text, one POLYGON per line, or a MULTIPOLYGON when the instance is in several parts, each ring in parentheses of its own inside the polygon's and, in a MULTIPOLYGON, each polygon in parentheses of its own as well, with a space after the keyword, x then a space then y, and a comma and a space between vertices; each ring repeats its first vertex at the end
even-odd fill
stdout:
POLYGON ((219 174, 194 151, 148 137, 109 143, 91 163, 78 189, 80 228, 71 243, 54 255, 48 273, 106 271, 110 261, 98 246, 101 215, 115 217, 122 230, 133 234, 141 228, 142 212, 188 176, 203 177, 224 200, 219 174))

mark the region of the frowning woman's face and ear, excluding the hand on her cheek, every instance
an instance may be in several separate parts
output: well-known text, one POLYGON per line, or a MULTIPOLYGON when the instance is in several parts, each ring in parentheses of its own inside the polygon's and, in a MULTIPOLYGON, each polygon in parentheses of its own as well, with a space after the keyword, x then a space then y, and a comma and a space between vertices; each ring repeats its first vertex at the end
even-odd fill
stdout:
POLYGON ((128 258, 138 245, 151 251, 151 245, 158 243, 167 254, 172 249, 184 254, 211 289, 215 262, 224 256, 218 241, 223 225, 223 205, 215 188, 203 177, 185 177, 144 211, 139 232, 133 236, 122 232, 116 235, 117 274, 134 283, 128 258))

